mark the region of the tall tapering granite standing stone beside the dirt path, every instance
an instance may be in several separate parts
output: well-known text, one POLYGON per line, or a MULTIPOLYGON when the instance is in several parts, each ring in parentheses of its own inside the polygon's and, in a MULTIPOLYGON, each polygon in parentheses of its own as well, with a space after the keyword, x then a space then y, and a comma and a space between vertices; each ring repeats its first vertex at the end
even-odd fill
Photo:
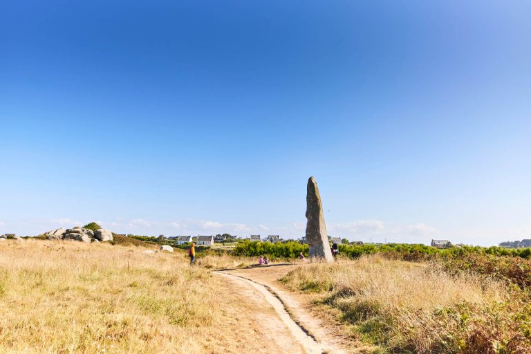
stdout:
POLYGON ((319 188, 313 177, 308 180, 306 218, 308 219, 306 223, 306 242, 310 246, 308 251, 310 257, 319 257, 327 262, 333 262, 334 257, 332 257, 330 244, 328 243, 321 196, 319 196, 319 188))

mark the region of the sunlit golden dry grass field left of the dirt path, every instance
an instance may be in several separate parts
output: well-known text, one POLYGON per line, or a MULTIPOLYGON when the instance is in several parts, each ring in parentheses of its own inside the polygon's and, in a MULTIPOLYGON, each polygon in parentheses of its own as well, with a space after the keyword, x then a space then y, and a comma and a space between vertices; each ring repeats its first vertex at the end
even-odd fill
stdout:
POLYGON ((0 353, 240 353, 237 294, 185 252, 68 241, 0 245, 0 353), (230 319, 230 323, 228 322, 230 319))

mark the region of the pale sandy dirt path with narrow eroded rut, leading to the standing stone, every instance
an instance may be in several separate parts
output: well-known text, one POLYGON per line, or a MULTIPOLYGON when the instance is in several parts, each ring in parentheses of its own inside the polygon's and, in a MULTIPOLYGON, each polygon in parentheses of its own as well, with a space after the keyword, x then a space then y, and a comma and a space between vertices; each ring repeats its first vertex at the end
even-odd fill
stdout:
MULTIPOLYGON (((232 282, 245 283, 258 290, 274 308, 277 317, 289 328, 292 337, 301 345, 302 351, 297 353, 348 353, 335 341, 335 337, 331 335, 327 326, 309 313, 294 294, 277 286, 277 279, 292 267, 293 265, 272 265, 271 267, 225 270, 214 273, 232 282)), ((283 353, 296 352, 286 349, 283 353)))

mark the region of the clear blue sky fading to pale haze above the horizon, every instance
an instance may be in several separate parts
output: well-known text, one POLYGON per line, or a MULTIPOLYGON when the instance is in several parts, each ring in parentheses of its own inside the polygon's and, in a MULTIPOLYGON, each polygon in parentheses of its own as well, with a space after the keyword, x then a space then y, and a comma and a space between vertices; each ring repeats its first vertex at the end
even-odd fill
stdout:
POLYGON ((528 1, 4 1, 0 234, 531 238, 528 1))

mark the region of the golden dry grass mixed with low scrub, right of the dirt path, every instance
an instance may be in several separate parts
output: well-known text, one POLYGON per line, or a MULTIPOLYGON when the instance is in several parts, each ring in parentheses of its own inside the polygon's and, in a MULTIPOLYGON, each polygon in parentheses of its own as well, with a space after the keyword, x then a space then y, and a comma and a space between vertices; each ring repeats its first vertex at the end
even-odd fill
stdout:
POLYGON ((530 353, 518 290, 472 274, 380 256, 302 265, 283 278, 322 293, 358 333, 391 353, 530 353), (516 293, 515 293, 516 291, 516 293))

